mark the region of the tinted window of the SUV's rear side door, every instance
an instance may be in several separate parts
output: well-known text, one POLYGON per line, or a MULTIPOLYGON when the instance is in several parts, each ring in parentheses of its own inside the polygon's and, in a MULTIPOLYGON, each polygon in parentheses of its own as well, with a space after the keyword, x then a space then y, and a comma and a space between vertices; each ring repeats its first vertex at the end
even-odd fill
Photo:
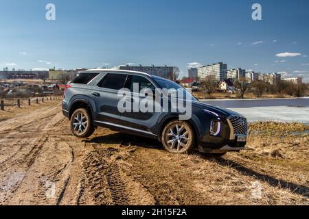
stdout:
POLYGON ((100 88, 108 88, 113 90, 120 90, 124 88, 124 83, 126 83, 126 78, 128 75, 121 74, 107 74, 105 77, 98 83, 100 88))

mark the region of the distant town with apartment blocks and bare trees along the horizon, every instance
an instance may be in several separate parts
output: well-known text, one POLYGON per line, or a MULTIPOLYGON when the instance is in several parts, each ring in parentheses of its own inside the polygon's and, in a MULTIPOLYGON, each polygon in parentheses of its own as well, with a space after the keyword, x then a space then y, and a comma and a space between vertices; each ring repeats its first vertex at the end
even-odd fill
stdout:
MULTIPOLYGON (((306 96, 308 84, 303 83, 301 77, 283 78, 278 73, 257 73, 242 68, 227 69, 227 64, 218 62, 198 68, 189 68, 186 77, 179 78, 179 68, 176 66, 118 66, 119 70, 134 70, 150 75, 157 75, 180 83, 185 88, 192 88, 198 95, 207 93, 208 96, 214 93, 236 94, 238 98, 244 98, 246 92, 261 97, 264 93, 277 94, 277 96, 306 96)), ((63 88, 71 81, 78 72, 87 68, 74 70, 62 70, 55 67, 49 70, 16 70, 3 68, 0 71, 0 87, 9 88, 23 86, 18 80, 43 80, 53 88, 63 88), (2 80, 2 81, 1 81, 2 80), (5 80, 14 80, 14 83, 5 83, 5 80), (16 82, 19 82, 17 83, 16 82)))

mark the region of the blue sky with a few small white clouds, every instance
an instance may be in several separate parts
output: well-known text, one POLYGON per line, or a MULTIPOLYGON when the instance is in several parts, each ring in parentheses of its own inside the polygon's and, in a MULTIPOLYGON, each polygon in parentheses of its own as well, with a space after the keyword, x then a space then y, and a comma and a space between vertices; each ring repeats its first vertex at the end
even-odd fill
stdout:
POLYGON ((307 0, 2 0, 1 9, 0 68, 168 64, 186 75, 188 63, 225 62, 309 77, 307 0), (56 21, 45 19, 47 3, 56 21))

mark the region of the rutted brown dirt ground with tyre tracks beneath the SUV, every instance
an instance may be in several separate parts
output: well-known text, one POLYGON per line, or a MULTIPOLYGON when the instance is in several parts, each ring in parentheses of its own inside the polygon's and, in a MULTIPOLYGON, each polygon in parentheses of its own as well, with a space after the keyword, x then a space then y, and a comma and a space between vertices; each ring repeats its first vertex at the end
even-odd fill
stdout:
POLYGON ((0 205, 308 205, 308 168, 279 166, 172 155, 108 129, 80 140, 60 103, 0 121, 0 205))

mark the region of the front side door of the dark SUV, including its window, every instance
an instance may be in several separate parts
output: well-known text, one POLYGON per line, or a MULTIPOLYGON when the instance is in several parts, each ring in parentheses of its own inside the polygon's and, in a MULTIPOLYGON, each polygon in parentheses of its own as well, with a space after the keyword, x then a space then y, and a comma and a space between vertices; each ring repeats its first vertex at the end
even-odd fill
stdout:
MULTIPOLYGON (((128 88, 132 93, 132 107, 134 109, 134 104, 140 104, 143 99, 146 98, 145 94, 141 94, 142 89, 150 89, 155 94, 156 87, 154 83, 150 81, 147 77, 140 75, 129 75, 128 83, 126 83, 126 88, 128 88), (134 83, 138 84, 138 90, 134 90, 134 83)), ((152 133, 152 128, 157 125, 157 119, 159 118, 161 112, 155 112, 155 105, 159 104, 155 102, 155 96, 153 96, 154 101, 149 102, 149 108, 152 108, 152 112, 141 112, 139 109, 138 112, 124 112, 121 116, 121 123, 126 127, 131 127, 139 131, 148 131, 152 133)))

